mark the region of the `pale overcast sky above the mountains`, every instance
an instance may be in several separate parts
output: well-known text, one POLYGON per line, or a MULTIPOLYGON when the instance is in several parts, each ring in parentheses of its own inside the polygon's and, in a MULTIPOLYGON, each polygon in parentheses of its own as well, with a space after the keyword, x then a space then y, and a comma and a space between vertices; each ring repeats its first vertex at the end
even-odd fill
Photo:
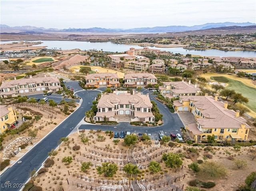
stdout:
POLYGON ((0 24, 142 28, 256 23, 256 0, 0 0, 0 24))

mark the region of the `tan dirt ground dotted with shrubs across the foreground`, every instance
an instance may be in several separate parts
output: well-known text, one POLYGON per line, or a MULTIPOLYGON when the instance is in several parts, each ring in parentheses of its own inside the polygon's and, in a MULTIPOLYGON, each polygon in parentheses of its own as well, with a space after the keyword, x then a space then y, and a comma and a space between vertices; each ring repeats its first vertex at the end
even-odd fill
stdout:
MULTIPOLYGON (((83 144, 79 137, 80 134, 74 133, 70 135, 69 141, 66 142, 66 144, 62 143, 60 150, 56 149, 58 154, 53 158, 54 165, 48 168, 48 172, 37 175, 34 182, 41 186, 43 190, 56 190, 60 185, 63 186, 64 190, 76 190, 81 189, 81 184, 85 190, 89 190, 91 187, 93 187, 94 190, 95 187, 97 187, 97 189, 102 187, 103 190, 110 190, 110 188, 123 188, 126 190, 128 188, 129 176, 126 175, 121 168, 127 162, 128 147, 123 146, 123 139, 120 139, 120 142, 117 145, 114 145, 112 138, 110 138, 108 134, 105 134, 105 132, 90 132, 90 130, 86 130, 85 134, 89 137, 90 141, 89 144, 83 144), (104 142, 97 141, 96 138, 98 135, 106 137, 106 140, 104 142), (79 151, 72 150, 72 147, 75 145, 81 147, 79 151), (65 165, 61 161, 64 156, 72 156, 72 163, 65 165), (92 166, 87 172, 82 172, 80 170, 81 162, 85 161, 91 161, 92 166), (98 175, 96 166, 105 161, 118 164, 118 171, 113 177, 108 178, 104 177, 104 175, 98 175)), ((216 186, 207 189, 208 191, 233 191, 236 189, 237 185, 244 183, 244 180, 249 173, 255 171, 254 167, 256 166, 256 160, 250 159, 248 153, 250 153, 250 150, 256 151, 256 148, 244 147, 241 148, 240 151, 234 151, 232 147, 213 147, 211 151, 212 159, 208 159, 207 161, 217 161, 221 163, 227 168, 227 175, 222 178, 206 178, 203 175, 196 174, 191 169, 188 169, 188 164, 197 161, 198 159, 203 160, 206 151, 201 147, 194 147, 196 148, 197 153, 193 154, 187 152, 189 147, 191 146, 188 146, 187 144, 176 144, 175 148, 170 148, 169 146, 155 147, 153 141, 152 146, 146 145, 143 142, 138 142, 134 150, 134 158, 141 170, 138 183, 142 187, 144 185, 148 188, 151 185, 151 190, 167 191, 170 190, 170 185, 166 186, 165 184, 165 186, 163 186, 167 179, 170 181, 173 180, 173 185, 180 188, 182 188, 183 185, 184 188, 186 188, 188 182, 192 179, 200 179, 204 182, 213 181, 216 183, 216 186), (229 151, 231 156, 235 159, 246 160, 247 167, 238 169, 233 161, 227 158, 225 151, 229 151), (161 153, 166 152, 189 153, 188 155, 191 159, 184 158, 183 168, 178 169, 168 168, 163 162, 160 162, 162 171, 150 174, 146 168, 148 163, 152 160, 159 161, 162 158, 161 153), (185 178, 183 179, 184 175, 185 178), (176 182, 174 182, 175 179, 176 182), (160 187, 158 187, 159 183, 161 183, 160 187), (154 186, 156 185, 157 187, 154 189, 154 186)))

